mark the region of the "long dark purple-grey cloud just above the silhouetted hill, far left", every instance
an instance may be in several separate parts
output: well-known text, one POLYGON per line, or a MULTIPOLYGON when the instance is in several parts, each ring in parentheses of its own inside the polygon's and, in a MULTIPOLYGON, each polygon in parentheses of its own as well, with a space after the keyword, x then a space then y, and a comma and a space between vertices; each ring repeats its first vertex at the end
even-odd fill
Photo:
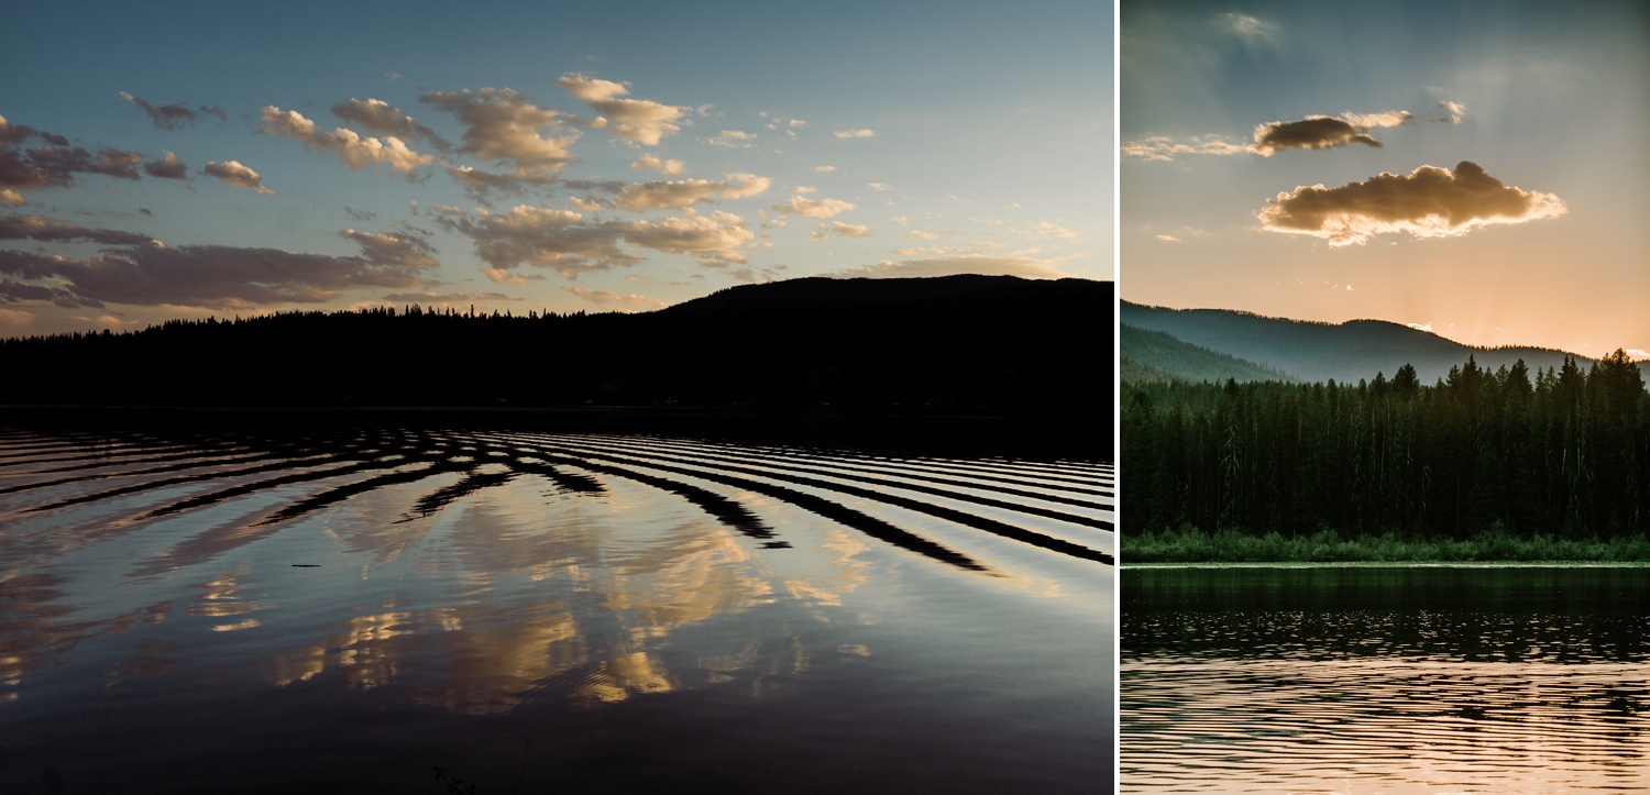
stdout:
POLYGON ((59 305, 102 307, 107 302, 214 310, 318 303, 351 289, 424 289, 432 284, 403 267, 361 257, 158 242, 106 251, 92 259, 0 251, 0 274, 48 282, 35 287, 61 290, 53 299, 59 305))

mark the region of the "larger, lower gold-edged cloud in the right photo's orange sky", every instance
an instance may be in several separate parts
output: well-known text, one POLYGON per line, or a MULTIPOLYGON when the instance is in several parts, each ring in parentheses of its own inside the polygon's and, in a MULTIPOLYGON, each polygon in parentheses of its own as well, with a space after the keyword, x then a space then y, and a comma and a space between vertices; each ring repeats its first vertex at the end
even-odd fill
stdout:
POLYGON ((1300 186, 1267 200, 1259 219, 1266 231, 1310 234, 1338 247, 1361 246, 1383 233, 1460 236, 1477 226, 1518 224, 1566 211, 1558 196, 1502 185, 1464 160, 1455 172, 1424 165, 1409 175, 1383 172, 1340 188, 1300 186))

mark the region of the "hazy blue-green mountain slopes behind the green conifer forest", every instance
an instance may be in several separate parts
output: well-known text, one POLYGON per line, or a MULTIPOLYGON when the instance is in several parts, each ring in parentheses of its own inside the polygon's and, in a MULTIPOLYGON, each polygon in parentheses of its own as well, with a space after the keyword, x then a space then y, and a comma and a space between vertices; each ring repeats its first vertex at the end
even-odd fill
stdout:
MULTIPOLYGON (((1304 381, 1388 378, 1414 365, 1422 383, 1449 374, 1472 356, 1497 369, 1523 360, 1531 371, 1559 368, 1564 351, 1549 348, 1477 348, 1384 320, 1318 323, 1219 308, 1163 308, 1120 302, 1119 322, 1163 332, 1181 341, 1279 368, 1304 381)), ((1594 360, 1576 356, 1586 366, 1594 360)))

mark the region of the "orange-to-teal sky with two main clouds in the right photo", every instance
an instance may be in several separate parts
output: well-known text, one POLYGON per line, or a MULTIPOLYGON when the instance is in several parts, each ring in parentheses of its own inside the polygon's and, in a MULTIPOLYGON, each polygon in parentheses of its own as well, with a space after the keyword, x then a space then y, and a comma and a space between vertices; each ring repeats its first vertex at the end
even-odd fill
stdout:
POLYGON ((1119 8, 1119 292, 1650 358, 1650 5, 1119 8))

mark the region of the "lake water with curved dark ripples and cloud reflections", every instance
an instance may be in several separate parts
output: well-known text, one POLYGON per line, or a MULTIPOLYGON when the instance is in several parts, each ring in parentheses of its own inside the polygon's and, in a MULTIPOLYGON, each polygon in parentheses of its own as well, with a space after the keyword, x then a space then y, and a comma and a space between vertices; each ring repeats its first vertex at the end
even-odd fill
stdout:
POLYGON ((1109 792, 1112 482, 393 416, 13 424, 0 792, 1109 792))

